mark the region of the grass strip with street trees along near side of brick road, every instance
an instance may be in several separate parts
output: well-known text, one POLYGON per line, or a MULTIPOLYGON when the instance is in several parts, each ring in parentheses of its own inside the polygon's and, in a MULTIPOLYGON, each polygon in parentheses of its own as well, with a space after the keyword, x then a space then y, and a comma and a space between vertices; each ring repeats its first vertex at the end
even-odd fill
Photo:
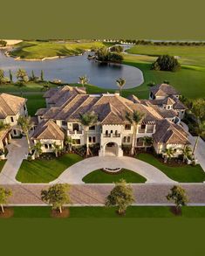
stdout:
MULTIPOLYGON (((17 206, 13 209, 13 218, 51 217, 51 208, 46 206, 17 206)), ((72 206, 69 210, 69 218, 205 218, 204 206, 184 206, 180 217, 175 217, 168 206, 130 206, 124 217, 116 214, 114 207, 72 206)))

